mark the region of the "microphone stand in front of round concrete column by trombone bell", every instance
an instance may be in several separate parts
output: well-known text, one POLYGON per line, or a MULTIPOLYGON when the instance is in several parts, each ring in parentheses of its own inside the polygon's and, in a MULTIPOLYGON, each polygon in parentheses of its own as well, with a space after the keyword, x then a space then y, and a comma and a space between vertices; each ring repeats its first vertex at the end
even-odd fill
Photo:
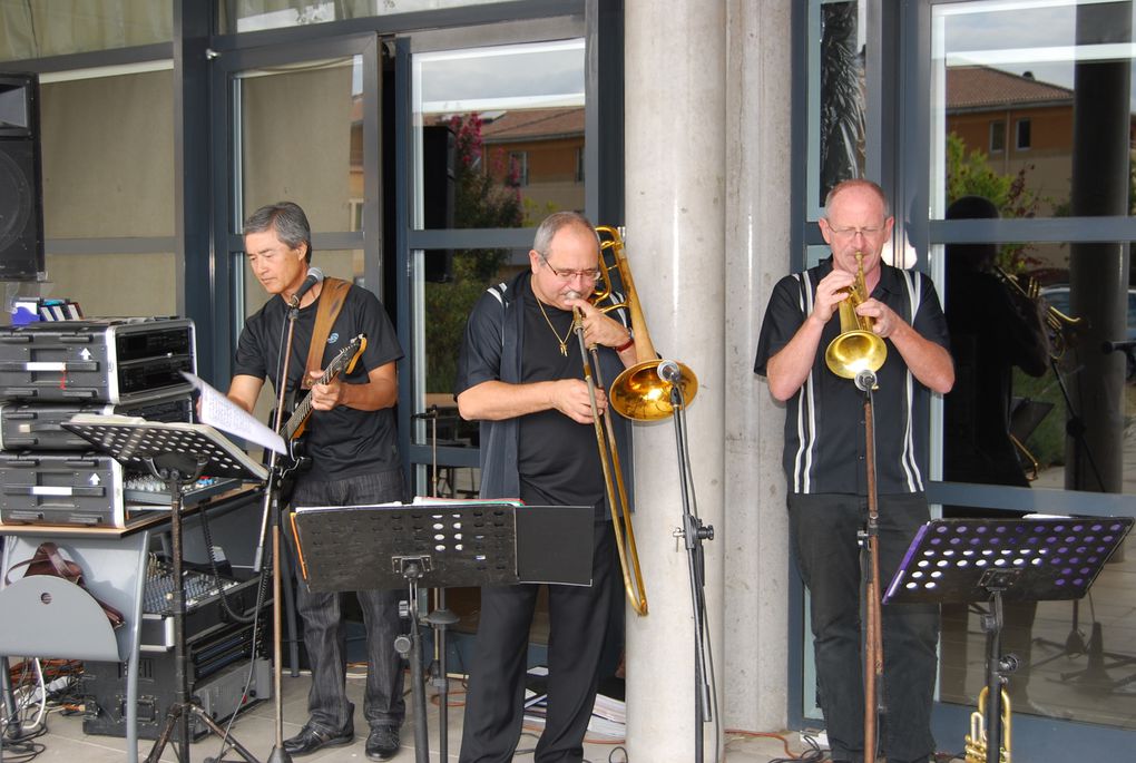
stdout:
MULTIPOLYGON (((677 368, 675 369, 677 374, 677 368)), ((686 403, 678 378, 667 378, 670 374, 663 371, 660 377, 670 383, 671 418, 675 422, 675 446, 678 452, 679 489, 683 497, 683 526, 675 530, 675 537, 682 537, 686 547, 686 567, 691 585, 691 607, 694 613, 694 760, 702 763, 703 726, 713 720, 716 699, 711 690, 713 684, 713 663, 710 646, 707 643, 709 627, 705 602, 705 555, 703 540, 713 540, 713 527, 703 526, 702 519, 693 506, 693 486, 691 479, 691 460, 686 436, 686 403), (666 376, 663 376, 666 374, 666 376)), ((715 745, 717 754, 718 746, 715 745)))

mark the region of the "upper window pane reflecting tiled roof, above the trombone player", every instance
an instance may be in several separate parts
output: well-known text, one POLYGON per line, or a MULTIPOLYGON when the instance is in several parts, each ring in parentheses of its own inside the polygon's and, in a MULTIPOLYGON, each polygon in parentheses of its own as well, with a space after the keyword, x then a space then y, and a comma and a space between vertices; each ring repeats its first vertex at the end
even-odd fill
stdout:
POLYGON ((535 226, 584 208, 582 39, 416 53, 412 69, 416 228, 535 226))

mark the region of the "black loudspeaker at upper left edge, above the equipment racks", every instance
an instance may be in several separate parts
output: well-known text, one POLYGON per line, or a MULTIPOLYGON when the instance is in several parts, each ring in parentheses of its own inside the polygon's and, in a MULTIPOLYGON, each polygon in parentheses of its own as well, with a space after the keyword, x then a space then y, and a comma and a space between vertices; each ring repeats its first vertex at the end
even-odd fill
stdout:
POLYGON ((43 263, 40 81, 0 72, 0 280, 36 280, 43 263))

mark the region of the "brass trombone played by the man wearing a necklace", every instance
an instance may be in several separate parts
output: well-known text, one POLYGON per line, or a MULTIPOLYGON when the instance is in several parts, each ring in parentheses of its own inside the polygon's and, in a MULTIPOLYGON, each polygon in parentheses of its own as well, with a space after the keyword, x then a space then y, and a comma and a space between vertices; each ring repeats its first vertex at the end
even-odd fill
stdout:
MULTIPOLYGON (((603 285, 592 294, 591 302, 603 313, 626 308, 630 315, 632 334, 635 337, 636 362, 616 377, 608 389, 608 402, 621 416, 629 419, 637 421, 662 419, 671 414, 673 405, 669 394, 671 383, 665 382, 658 374, 659 363, 662 361, 655 355, 651 336, 646 330, 643 310, 635 292, 635 283, 632 280, 630 268, 624 257, 623 236, 618 229, 608 226, 599 226, 595 232, 600 237, 599 269, 603 285), (611 254, 613 263, 610 266, 604 259, 605 252, 611 254), (619 274, 619 279, 626 290, 626 296, 623 301, 618 300, 612 286, 612 270, 619 274), (601 305, 600 303, 603 301, 608 301, 609 304, 601 305)), ((643 581, 643 571, 640 569, 638 551, 635 547, 635 530, 632 526, 630 504, 627 500, 624 471, 619 463, 615 427, 611 424, 611 417, 600 416, 595 400, 596 387, 603 387, 599 349, 595 345, 591 349, 586 346, 584 315, 578 308, 574 310, 574 330, 579 341, 580 357, 584 361, 584 380, 587 383, 588 399, 592 403, 592 422, 595 426, 596 446, 600 448, 600 463, 603 467, 603 481, 608 505, 611 509, 616 550, 619 553, 619 567, 624 575, 624 590, 635 613, 645 615, 648 613, 646 587, 643 581)), ((686 366, 682 363, 677 363, 677 366, 680 377, 675 384, 682 388, 687 401, 693 400, 698 393, 698 379, 686 366)))

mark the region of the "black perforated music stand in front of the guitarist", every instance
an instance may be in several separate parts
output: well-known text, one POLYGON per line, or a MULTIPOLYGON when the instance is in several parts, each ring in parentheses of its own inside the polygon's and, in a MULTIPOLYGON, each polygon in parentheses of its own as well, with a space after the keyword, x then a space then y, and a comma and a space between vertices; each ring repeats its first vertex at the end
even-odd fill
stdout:
MULTIPOLYGON (((185 488, 208 471, 211 477, 234 477, 260 481, 268 472, 224 435, 204 424, 158 422, 124 416, 80 413, 62 427, 111 455, 124 467, 148 470, 166 483, 170 495, 170 543, 174 580, 182 581, 182 500, 185 488), (208 468, 208 469, 207 469, 208 468)), ((175 702, 166 726, 154 741, 145 763, 157 763, 176 727, 179 763, 190 761, 190 715, 228 741, 249 763, 258 763, 252 753, 231 738, 216 721, 190 697, 185 649, 185 590, 174 586, 174 682, 175 702)))

